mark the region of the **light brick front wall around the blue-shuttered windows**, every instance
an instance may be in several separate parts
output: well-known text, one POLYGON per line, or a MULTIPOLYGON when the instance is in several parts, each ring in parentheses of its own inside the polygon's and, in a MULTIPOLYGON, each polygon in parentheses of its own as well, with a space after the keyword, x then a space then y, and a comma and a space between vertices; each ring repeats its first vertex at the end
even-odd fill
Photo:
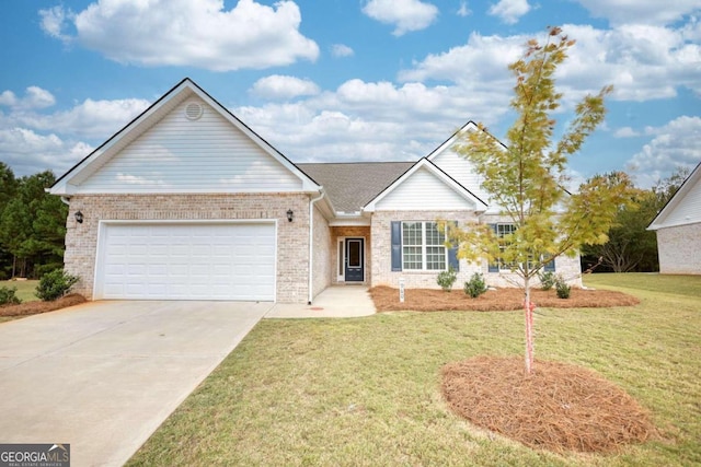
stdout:
MULTIPOLYGON (((374 256, 371 261, 372 280, 371 285, 399 287, 399 279, 404 279, 407 288, 440 289, 436 283, 438 271, 392 271, 392 248, 391 248, 391 222, 392 221, 435 221, 443 219, 447 221, 458 221, 460 225, 468 222, 476 222, 478 218, 473 212, 450 212, 450 211, 378 211, 372 215, 371 236, 374 243, 374 256)), ((498 218, 483 219, 482 222, 497 222, 498 218)), ((462 288, 474 272, 484 275, 487 285, 506 288, 516 287, 518 278, 509 272, 489 272, 489 264, 482 260, 479 264, 468 262, 460 259, 460 271, 455 288, 462 288)), ((582 268, 579 255, 570 258, 561 256, 555 259, 555 273, 561 275, 567 283, 574 287, 582 287, 582 268)))

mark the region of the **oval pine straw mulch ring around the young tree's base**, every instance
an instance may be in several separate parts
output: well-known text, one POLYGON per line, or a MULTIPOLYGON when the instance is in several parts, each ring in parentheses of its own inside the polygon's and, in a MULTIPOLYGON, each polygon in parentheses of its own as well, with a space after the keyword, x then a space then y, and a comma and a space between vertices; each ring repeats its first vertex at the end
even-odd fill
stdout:
POLYGON ((532 448, 612 453, 658 437, 647 412, 588 370, 521 358, 476 357, 443 367, 449 407, 478 427, 532 448))

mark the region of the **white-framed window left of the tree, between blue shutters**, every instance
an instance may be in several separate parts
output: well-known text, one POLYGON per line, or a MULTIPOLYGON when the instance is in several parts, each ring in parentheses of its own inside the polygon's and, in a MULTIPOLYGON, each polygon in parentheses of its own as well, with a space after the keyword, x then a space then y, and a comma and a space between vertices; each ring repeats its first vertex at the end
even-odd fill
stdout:
POLYGON ((446 233, 436 222, 402 222, 402 269, 445 270, 446 233))

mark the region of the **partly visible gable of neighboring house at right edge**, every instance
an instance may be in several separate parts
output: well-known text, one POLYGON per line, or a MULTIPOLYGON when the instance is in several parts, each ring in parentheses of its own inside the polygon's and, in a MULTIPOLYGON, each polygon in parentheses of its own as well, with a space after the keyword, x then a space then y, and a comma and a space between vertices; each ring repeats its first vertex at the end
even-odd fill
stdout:
POLYGON ((651 231, 701 222, 701 163, 647 227, 651 231))

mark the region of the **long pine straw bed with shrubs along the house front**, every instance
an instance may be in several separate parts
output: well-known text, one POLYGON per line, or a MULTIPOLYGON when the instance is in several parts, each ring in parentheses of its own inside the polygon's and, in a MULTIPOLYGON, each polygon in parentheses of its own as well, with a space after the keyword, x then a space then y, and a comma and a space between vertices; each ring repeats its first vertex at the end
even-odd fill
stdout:
MULTIPOLYGON (((471 299, 462 290, 444 292, 436 289, 406 289, 404 303, 399 301, 399 290, 386 285, 370 289, 370 296, 378 312, 504 312, 521 310, 524 291, 516 288, 489 290, 471 299)), ((559 299, 554 290, 531 289, 531 302, 547 308, 593 308, 637 305, 640 300, 622 292, 610 290, 572 289, 570 299, 559 299)))

